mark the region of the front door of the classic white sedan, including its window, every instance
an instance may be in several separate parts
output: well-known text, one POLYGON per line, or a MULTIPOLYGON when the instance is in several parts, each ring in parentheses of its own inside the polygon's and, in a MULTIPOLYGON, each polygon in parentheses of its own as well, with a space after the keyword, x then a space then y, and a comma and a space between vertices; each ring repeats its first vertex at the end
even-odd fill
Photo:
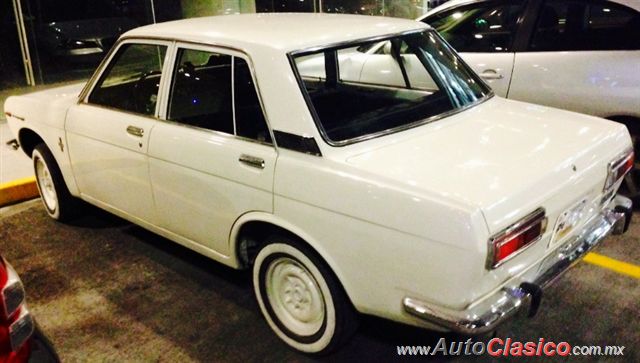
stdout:
POLYGON ((83 198, 154 223, 147 148, 156 120, 167 42, 119 45, 66 120, 69 157, 83 198))

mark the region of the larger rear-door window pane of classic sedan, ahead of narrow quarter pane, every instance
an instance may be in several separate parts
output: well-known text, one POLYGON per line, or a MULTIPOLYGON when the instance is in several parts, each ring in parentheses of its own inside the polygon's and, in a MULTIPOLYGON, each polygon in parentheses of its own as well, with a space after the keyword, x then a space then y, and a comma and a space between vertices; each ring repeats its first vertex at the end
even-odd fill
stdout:
POLYGON ((231 56, 179 49, 167 118, 233 134, 231 56))

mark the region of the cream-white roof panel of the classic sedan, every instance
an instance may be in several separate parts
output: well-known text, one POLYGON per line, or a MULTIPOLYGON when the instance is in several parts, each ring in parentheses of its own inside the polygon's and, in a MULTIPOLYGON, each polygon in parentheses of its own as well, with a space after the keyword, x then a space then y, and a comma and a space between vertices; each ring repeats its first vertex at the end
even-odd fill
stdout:
POLYGON ((261 13, 158 23, 133 29, 124 36, 229 45, 243 50, 258 46, 289 52, 419 29, 429 26, 414 20, 377 16, 261 13))

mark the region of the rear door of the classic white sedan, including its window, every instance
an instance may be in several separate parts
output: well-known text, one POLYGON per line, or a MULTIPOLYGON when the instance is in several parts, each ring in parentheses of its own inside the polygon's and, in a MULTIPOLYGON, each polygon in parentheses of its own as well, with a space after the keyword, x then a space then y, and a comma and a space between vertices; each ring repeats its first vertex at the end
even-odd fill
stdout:
POLYGON ((224 257, 238 217, 273 211, 276 149, 246 56, 178 45, 174 64, 149 145, 159 225, 224 257))

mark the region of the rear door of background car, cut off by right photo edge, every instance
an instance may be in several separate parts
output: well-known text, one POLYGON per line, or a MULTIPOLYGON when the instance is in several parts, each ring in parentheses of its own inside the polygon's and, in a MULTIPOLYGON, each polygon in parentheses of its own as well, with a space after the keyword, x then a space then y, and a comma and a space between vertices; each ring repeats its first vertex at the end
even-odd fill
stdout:
POLYGON ((640 13, 605 1, 543 5, 509 98, 597 115, 640 116, 640 13))

